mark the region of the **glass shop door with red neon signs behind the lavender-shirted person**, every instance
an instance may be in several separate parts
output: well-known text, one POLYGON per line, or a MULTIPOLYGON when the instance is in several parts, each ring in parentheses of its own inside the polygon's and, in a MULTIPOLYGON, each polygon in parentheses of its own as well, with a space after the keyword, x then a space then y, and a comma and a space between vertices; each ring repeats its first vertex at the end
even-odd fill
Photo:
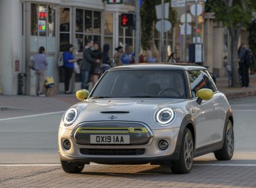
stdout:
MULTIPOLYGON (((30 55, 38 53, 40 46, 45 48, 48 60, 47 76, 56 80, 56 6, 53 4, 31 3, 30 55)), ((31 72, 31 94, 35 93, 35 73, 31 72)))

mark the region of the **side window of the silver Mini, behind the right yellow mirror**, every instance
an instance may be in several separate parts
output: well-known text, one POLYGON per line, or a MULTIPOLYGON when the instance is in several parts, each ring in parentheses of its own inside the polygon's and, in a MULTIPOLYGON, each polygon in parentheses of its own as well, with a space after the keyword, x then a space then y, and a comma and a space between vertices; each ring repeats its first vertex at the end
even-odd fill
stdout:
POLYGON ((212 80, 209 79, 209 74, 205 70, 192 70, 187 71, 187 76, 189 78, 189 83, 191 86, 191 95, 192 98, 196 97, 196 92, 203 88, 207 88, 214 91, 217 91, 216 86, 212 83, 212 80))

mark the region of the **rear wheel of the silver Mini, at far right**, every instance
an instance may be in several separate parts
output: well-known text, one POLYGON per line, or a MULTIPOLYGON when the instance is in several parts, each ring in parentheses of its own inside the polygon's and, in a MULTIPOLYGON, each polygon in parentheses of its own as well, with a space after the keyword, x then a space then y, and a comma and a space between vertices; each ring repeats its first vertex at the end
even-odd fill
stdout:
POLYGON ((230 120, 226 123, 225 138, 223 147, 220 150, 216 150, 214 155, 217 160, 230 160, 234 153, 234 131, 233 124, 230 120))

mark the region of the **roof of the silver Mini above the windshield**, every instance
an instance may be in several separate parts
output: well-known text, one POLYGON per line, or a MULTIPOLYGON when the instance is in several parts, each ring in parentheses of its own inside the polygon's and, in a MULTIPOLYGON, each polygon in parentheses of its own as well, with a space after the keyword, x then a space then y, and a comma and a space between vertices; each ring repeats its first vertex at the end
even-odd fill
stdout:
POLYGON ((192 63, 140 63, 116 66, 109 71, 119 70, 207 70, 207 68, 192 63))

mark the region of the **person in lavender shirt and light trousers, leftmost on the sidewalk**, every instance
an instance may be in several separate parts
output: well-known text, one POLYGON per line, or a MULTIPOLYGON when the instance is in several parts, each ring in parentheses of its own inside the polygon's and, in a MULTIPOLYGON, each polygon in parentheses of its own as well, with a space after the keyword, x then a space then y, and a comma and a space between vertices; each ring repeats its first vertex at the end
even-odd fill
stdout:
POLYGON ((36 90, 36 96, 45 96, 43 94, 43 87, 45 83, 45 72, 47 70, 48 66, 48 61, 45 56, 45 48, 41 46, 39 48, 38 54, 36 54, 33 57, 33 63, 34 63, 34 68, 35 68, 35 75, 36 75, 36 85, 35 85, 35 90, 36 90))

